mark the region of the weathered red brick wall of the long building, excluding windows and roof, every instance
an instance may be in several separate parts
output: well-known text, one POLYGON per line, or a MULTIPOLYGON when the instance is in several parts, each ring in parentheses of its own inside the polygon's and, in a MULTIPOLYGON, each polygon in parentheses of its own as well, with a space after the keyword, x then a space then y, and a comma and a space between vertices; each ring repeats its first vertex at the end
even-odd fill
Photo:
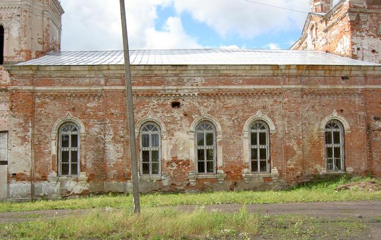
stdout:
MULTIPOLYGON (((35 197, 129 191, 123 68, 38 67, 23 73, 22 66, 8 68, 9 197, 28 198, 30 178, 35 197), (66 116, 84 126, 79 176, 57 175, 54 126, 66 116)), ((157 118, 166 129, 161 176, 143 177, 141 191, 263 190, 325 176, 320 125, 333 112, 350 126, 344 133, 345 169, 380 175, 379 74, 378 67, 133 66, 135 121, 157 118), (180 107, 173 108, 172 102, 180 107), (270 133, 270 173, 244 175, 249 163, 243 126, 259 110, 275 127, 270 133), (190 127, 203 115, 221 127, 216 170, 223 177, 196 177, 192 182, 196 166, 190 127)), ((138 135, 136 140, 139 153, 138 135)))

